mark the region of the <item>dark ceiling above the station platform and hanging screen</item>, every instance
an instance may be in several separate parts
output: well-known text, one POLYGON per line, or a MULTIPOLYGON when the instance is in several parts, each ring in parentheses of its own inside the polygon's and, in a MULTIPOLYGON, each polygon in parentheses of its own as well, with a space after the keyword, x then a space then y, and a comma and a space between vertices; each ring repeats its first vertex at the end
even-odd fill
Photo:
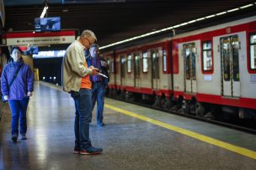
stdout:
MULTIPOLYGON (((40 17, 44 2, 4 0, 5 31, 33 30, 34 19, 40 17)), ((92 29, 102 46, 249 3, 253 7, 243 14, 255 14, 252 0, 48 0, 47 17, 60 16, 62 29, 92 29)))

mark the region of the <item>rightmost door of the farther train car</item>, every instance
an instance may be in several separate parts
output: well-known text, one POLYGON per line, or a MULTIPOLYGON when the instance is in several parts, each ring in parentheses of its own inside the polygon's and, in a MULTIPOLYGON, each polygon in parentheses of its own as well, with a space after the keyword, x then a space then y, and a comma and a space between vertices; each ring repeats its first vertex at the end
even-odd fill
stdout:
POLYGON ((158 50, 152 50, 152 89, 159 89, 159 53, 158 50))

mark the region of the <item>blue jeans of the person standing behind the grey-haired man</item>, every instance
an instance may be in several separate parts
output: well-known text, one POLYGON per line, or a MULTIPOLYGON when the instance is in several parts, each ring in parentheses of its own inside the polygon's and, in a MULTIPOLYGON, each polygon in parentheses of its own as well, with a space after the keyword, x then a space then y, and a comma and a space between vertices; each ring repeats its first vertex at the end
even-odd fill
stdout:
POLYGON ((104 97, 105 97, 105 87, 104 82, 96 82, 93 83, 93 90, 92 90, 92 102, 93 108, 95 106, 95 102, 97 100, 97 124, 103 123, 103 111, 104 111, 104 97))

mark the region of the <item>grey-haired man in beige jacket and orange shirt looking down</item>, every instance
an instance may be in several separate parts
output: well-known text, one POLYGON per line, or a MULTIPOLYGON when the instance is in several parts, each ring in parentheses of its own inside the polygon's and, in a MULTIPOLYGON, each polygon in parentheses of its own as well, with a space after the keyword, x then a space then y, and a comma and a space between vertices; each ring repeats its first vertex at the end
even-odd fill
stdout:
POLYGON ((93 147, 89 137, 89 124, 92 120, 92 95, 89 75, 99 74, 97 68, 88 67, 84 49, 89 49, 96 41, 91 30, 84 30, 78 40, 67 48, 62 63, 63 90, 71 94, 75 101, 75 154, 98 154, 102 148, 93 147))

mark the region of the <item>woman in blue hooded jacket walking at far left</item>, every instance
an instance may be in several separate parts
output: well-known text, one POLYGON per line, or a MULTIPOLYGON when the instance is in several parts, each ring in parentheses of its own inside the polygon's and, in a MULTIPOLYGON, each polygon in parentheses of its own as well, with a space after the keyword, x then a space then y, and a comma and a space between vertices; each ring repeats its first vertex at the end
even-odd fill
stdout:
POLYGON ((22 140, 26 140, 27 132, 27 106, 29 97, 34 90, 34 74, 28 64, 24 64, 21 58, 22 51, 14 46, 11 49, 11 61, 3 68, 1 77, 1 90, 3 99, 8 100, 12 112, 12 140, 17 142, 20 135, 22 140))

